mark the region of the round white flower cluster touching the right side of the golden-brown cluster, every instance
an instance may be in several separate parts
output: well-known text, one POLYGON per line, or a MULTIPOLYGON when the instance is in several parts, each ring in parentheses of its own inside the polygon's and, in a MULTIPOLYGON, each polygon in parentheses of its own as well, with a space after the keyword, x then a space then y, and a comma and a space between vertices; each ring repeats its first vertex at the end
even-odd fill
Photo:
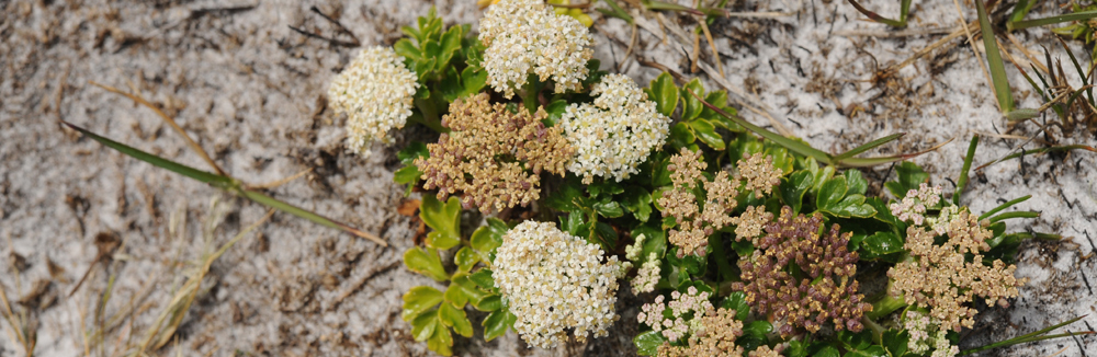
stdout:
POLYGON ((667 139, 670 118, 624 74, 603 77, 590 94, 597 96, 593 104, 569 105, 558 124, 576 149, 567 170, 586 184, 593 176, 629 178, 667 139))

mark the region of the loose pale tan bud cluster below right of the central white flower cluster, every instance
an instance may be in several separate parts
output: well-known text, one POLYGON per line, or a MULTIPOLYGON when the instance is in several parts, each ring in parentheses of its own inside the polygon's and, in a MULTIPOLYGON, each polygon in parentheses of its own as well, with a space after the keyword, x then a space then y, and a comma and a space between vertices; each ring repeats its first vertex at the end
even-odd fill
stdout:
POLYGON ((701 172, 708 163, 700 160, 701 152, 682 148, 681 152, 670 157, 670 181, 674 188, 663 193, 659 205, 664 207, 663 217, 674 217, 678 227, 670 230, 669 240, 677 245, 678 256, 686 254, 704 255, 709 244, 709 234, 733 222, 730 216, 738 205, 735 196, 739 182, 727 177, 727 172, 716 173, 712 181, 705 180, 701 172), (705 189, 704 210, 698 207, 698 197, 693 194, 698 182, 705 189))

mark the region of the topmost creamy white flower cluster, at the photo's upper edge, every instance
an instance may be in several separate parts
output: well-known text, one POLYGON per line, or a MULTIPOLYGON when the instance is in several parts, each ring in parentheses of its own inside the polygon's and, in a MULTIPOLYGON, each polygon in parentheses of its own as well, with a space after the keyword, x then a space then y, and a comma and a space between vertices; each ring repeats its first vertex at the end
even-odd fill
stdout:
POLYGON ((542 0, 499 1, 479 25, 479 41, 487 46, 487 82, 508 99, 531 72, 541 81, 552 78, 556 93, 577 90, 587 78, 587 60, 593 55, 587 48, 593 42, 589 31, 578 20, 554 13, 542 0))

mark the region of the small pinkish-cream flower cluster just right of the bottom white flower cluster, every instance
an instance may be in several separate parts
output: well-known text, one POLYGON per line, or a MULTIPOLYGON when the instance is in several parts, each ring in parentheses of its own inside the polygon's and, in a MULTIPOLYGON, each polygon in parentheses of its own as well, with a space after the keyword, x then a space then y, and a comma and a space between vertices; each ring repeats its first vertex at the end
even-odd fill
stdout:
POLYGON ((641 313, 636 319, 655 332, 661 333, 670 342, 676 342, 687 334, 695 333, 701 327, 702 318, 712 311, 713 307, 709 302, 709 292, 698 291, 695 287, 689 287, 686 293, 670 292, 670 302, 664 304, 663 301, 666 301, 664 296, 655 297, 654 302, 641 307, 641 313), (665 319, 664 312, 667 309, 670 309, 671 316, 665 319))

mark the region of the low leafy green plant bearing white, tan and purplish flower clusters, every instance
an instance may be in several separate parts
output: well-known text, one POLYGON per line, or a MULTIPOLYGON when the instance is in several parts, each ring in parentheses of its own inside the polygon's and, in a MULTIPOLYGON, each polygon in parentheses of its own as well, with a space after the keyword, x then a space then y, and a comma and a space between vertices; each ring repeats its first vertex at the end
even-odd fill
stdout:
MULTIPOLYGON (((534 0, 502 1, 493 8, 529 11, 522 1, 534 0)), ((522 26, 491 31, 556 36, 522 26)), ((477 51, 489 46, 463 54, 486 58, 477 51)), ((532 56, 531 64, 551 62, 558 54, 532 56)), ((474 68, 465 64, 462 71, 474 68)), ((489 73, 512 65, 479 62, 489 73)), ((438 142, 411 142, 398 153, 405 168, 396 180, 426 191, 420 218, 433 229, 405 263, 449 281, 444 291, 421 286, 404 296, 403 318, 430 349, 452 354, 453 332, 472 335, 470 304, 488 313, 488 339, 510 329, 542 347, 569 332, 604 335, 606 322, 619 319, 612 307, 624 278, 648 301, 634 338, 642 355, 955 355, 977 299, 1006 304, 1017 296, 1024 281, 1010 264, 1020 242, 1058 239, 1006 232, 1007 220, 1037 216, 1005 211, 1028 197, 982 215, 961 206, 976 140, 951 200, 911 162, 895 165, 886 198, 870 192, 857 168, 920 152, 858 156, 902 134, 830 154, 739 118, 725 92, 705 91, 700 80, 679 87, 663 73, 641 89, 598 68, 589 60, 559 77, 527 72, 523 84, 511 76, 464 91, 450 113, 438 112, 449 130, 438 142), (617 151, 627 156, 604 154, 617 151), (461 210, 474 208, 494 217, 464 239, 461 210), (919 268, 941 280, 903 274, 919 268), (858 279, 871 276, 891 283, 861 291, 858 279)))

